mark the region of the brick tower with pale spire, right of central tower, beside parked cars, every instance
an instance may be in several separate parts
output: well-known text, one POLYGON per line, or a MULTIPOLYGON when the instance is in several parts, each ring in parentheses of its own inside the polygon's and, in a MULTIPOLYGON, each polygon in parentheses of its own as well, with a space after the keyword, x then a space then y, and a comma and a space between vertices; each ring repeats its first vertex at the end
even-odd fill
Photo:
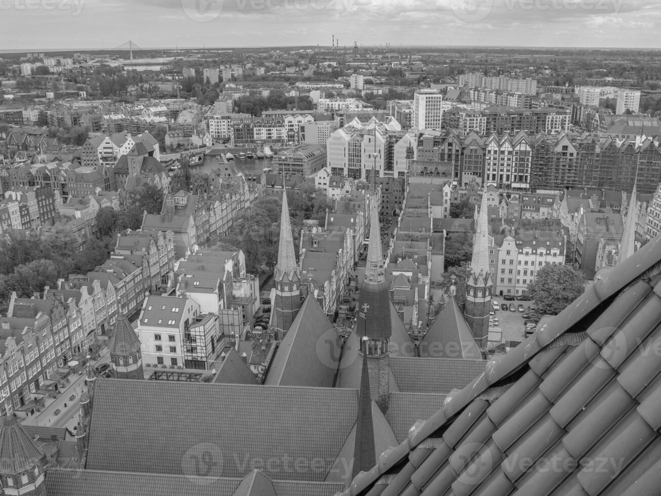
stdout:
POLYGON ((479 212, 475 209, 475 239, 473 258, 466 281, 465 316, 468 327, 481 350, 486 349, 489 335, 489 313, 493 280, 489 268, 489 233, 486 205, 486 184, 479 212))

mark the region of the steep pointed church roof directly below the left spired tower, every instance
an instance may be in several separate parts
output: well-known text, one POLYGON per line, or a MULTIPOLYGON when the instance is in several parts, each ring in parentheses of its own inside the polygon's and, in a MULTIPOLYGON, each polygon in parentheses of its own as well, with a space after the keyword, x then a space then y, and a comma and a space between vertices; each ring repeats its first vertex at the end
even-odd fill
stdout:
POLYGON ((340 338, 312 294, 298 311, 268 370, 268 386, 332 386, 340 338))

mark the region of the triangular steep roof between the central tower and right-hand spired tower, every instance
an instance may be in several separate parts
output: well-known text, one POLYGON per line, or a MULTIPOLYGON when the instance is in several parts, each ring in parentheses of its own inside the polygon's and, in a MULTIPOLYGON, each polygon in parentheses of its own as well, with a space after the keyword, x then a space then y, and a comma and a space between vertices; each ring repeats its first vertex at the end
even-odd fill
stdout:
POLYGON ((482 360, 482 352, 454 298, 448 300, 420 340, 420 356, 482 360))

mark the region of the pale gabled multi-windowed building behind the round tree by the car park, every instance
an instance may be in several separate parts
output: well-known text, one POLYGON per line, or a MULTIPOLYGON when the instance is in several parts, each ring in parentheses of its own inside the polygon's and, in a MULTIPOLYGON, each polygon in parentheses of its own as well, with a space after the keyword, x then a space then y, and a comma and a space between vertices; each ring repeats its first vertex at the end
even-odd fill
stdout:
POLYGON ((493 294, 525 294, 544 265, 564 265, 566 236, 558 231, 520 231, 496 235, 489 241, 493 294))

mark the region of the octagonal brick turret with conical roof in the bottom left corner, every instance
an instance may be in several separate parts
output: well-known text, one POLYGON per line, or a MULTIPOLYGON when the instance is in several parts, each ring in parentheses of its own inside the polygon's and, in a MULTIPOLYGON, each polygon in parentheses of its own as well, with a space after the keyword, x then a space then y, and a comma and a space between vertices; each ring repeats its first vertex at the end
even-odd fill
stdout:
POLYGON ((14 417, 0 417, 0 495, 46 496, 46 455, 14 417))

